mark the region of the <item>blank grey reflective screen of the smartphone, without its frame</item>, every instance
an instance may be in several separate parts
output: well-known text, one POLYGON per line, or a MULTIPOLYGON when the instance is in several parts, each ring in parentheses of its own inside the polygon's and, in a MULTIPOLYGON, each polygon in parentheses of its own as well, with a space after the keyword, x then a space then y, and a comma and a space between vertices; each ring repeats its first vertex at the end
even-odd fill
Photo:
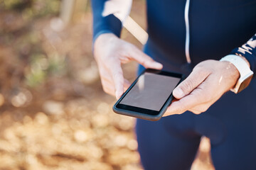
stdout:
POLYGON ((120 103, 160 111, 180 80, 177 77, 145 72, 120 103))

